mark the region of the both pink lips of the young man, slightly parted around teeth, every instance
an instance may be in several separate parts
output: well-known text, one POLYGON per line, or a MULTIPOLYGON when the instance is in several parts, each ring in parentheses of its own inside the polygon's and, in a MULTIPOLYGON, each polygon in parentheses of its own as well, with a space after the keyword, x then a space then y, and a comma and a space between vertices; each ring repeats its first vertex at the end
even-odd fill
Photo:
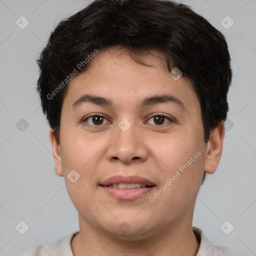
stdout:
POLYGON ((116 175, 116 176, 111 176, 109 178, 106 178, 104 181, 102 181, 99 184, 99 186, 102 189, 104 189, 104 191, 107 192, 110 196, 115 197, 116 199, 132 200, 149 193, 155 187, 155 184, 147 178, 143 178, 136 175, 127 176, 127 177, 122 175, 116 175), (121 189, 121 188, 108 186, 110 184, 115 184, 115 183, 140 183, 140 184, 145 184, 149 187, 121 189))

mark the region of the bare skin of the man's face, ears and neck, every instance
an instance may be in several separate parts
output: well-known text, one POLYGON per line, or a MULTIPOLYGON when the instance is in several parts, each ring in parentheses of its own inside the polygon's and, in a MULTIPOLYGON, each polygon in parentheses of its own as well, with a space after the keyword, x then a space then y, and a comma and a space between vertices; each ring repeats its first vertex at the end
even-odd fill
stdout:
POLYGON ((224 138, 223 121, 203 139, 198 98, 191 83, 181 76, 174 80, 159 51, 132 60, 127 49, 100 50, 89 69, 68 84, 60 119, 60 144, 52 129, 50 142, 55 172, 64 176, 68 194, 78 211, 79 234, 71 240, 74 256, 84 255, 188 255, 196 254, 199 242, 192 231, 196 194, 204 171, 213 173, 219 163, 224 138), (112 107, 72 104, 83 94, 106 97, 112 107), (184 109, 173 102, 138 109, 147 96, 169 93, 180 99, 184 109), (90 113, 105 117, 98 124, 90 113), (164 119, 158 124, 153 116, 164 119), (126 118, 127 131, 118 123, 126 118), (149 201, 169 177, 196 151, 201 154, 154 202, 149 201), (75 169, 80 178, 67 178, 75 169), (152 191, 134 200, 109 196, 98 184, 121 174, 139 175, 155 183, 152 191), (124 233, 119 225, 126 221, 124 233))

